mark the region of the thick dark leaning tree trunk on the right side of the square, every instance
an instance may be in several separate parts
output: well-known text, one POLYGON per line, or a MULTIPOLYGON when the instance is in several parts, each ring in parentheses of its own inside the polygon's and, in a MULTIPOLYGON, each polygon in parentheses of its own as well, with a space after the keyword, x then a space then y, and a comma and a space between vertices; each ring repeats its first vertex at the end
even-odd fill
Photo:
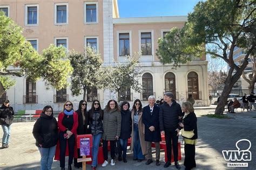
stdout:
POLYGON ((225 110, 225 105, 227 103, 228 94, 230 94, 234 84, 238 81, 239 77, 242 75, 242 70, 238 69, 237 72, 232 76, 233 70, 234 69, 230 68, 230 70, 228 71, 223 92, 221 93, 217 108, 215 109, 215 115, 223 115, 223 112, 225 110))

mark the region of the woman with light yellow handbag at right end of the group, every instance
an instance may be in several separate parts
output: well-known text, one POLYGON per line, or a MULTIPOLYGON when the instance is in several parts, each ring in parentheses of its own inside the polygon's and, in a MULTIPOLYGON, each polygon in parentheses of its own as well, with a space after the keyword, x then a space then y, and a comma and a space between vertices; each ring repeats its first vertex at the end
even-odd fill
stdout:
MULTIPOLYGON (((194 136, 192 138, 184 138, 185 146, 185 160, 184 160, 184 166, 185 169, 192 169, 196 167, 196 144, 197 144, 197 116, 194 114, 194 108, 190 102, 184 102, 182 103, 181 107, 184 116, 182 123, 179 123, 181 128, 183 128, 184 131, 193 131, 194 136)), ((182 135, 182 133, 181 133, 182 135)))

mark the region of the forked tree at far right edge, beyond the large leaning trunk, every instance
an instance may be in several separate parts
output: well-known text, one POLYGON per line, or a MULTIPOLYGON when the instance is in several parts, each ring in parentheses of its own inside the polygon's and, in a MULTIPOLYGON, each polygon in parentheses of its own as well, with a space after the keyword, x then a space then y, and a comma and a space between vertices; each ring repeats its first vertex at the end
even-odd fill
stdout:
POLYGON ((252 66, 252 73, 248 74, 248 78, 246 77, 245 70, 242 72, 242 78, 249 83, 248 90, 251 93, 251 91, 254 91, 254 84, 256 82, 256 62, 255 62, 255 56, 250 56, 252 66))

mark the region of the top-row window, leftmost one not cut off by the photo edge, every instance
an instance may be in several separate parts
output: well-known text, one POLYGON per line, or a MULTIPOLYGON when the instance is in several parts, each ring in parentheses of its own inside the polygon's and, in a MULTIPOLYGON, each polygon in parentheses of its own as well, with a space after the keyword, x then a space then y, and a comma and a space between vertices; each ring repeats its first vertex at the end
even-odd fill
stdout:
POLYGON ((25 25, 38 25, 38 5, 25 5, 25 25))

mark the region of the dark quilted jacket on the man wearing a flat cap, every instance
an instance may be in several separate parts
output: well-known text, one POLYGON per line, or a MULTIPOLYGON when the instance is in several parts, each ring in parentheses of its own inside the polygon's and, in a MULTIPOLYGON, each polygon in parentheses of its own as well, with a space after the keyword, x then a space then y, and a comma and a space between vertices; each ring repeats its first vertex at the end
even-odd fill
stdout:
POLYGON ((160 131, 164 131, 165 129, 176 130, 177 128, 181 129, 178 125, 179 116, 182 116, 182 111, 179 103, 176 101, 172 101, 172 105, 170 106, 168 103, 164 103, 160 105, 159 111, 159 123, 160 123, 160 131))

